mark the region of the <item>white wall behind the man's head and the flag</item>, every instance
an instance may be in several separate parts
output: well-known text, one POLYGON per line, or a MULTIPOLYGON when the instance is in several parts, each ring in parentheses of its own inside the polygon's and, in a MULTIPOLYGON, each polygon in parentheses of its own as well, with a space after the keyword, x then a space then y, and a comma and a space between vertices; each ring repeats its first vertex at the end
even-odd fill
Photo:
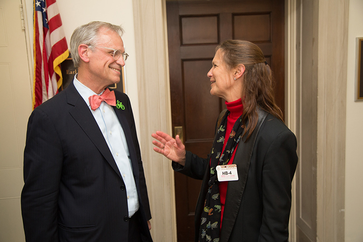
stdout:
MULTIPOLYGON (((25 4, 27 8, 30 40, 32 43, 33 0, 25 0, 25 4)), ((135 28, 132 0, 58 0, 57 4, 61 14, 68 47, 73 30, 75 30, 76 27, 91 21, 105 21, 121 25, 125 30, 122 40, 125 46, 125 51, 130 55, 124 68, 125 92, 130 97, 135 116, 136 130, 139 132, 140 122, 136 81, 135 28)))

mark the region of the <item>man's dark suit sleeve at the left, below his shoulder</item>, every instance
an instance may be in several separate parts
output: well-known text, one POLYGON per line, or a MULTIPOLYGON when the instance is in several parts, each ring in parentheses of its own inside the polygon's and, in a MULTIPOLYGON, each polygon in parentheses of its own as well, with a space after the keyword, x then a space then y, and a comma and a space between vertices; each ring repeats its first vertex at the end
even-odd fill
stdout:
POLYGON ((52 121, 35 109, 28 122, 24 150, 21 211, 27 242, 58 241, 58 194, 62 168, 61 140, 52 121))

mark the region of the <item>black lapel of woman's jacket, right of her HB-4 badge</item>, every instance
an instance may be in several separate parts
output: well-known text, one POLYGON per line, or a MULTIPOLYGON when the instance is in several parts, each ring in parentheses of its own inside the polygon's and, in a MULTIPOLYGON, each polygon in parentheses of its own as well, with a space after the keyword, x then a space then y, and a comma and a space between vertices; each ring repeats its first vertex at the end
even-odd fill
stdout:
POLYGON ((255 146, 257 134, 261 124, 267 116, 267 112, 260 109, 258 112, 258 121, 255 130, 249 137, 247 142, 240 142, 238 144, 236 154, 233 159, 233 164, 237 165, 238 181, 229 181, 227 187, 226 204, 228 207, 223 214, 223 223, 221 229, 221 242, 227 242, 231 235, 234 223, 236 222, 238 211, 242 201, 244 187, 247 181, 248 170, 252 152, 255 146))

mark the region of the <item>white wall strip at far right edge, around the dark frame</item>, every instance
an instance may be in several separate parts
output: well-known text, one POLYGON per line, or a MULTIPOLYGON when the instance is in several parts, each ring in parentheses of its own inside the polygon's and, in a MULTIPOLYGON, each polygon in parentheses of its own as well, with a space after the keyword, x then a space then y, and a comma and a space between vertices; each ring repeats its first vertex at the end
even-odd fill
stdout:
POLYGON ((363 37, 363 1, 349 1, 345 241, 363 241, 363 101, 354 102, 356 37, 363 37))

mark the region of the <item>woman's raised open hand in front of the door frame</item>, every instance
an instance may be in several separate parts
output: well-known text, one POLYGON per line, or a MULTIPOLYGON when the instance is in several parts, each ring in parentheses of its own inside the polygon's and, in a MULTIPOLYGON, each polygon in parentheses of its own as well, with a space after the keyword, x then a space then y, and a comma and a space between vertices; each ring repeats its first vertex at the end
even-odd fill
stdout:
POLYGON ((154 151, 165 155, 169 160, 175 161, 182 166, 185 165, 185 146, 181 142, 179 135, 174 139, 164 132, 156 131, 151 136, 159 141, 152 141, 152 144, 156 146, 153 148, 154 151))

